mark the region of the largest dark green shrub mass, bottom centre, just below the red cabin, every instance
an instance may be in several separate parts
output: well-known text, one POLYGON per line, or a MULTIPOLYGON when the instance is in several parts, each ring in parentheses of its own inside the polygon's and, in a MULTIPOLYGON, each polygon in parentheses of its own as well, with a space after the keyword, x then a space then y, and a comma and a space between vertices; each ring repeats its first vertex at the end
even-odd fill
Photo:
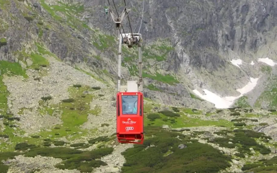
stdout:
POLYGON ((150 126, 145 135, 154 137, 122 153, 126 158, 122 172, 218 172, 230 167, 230 156, 181 133, 150 126))

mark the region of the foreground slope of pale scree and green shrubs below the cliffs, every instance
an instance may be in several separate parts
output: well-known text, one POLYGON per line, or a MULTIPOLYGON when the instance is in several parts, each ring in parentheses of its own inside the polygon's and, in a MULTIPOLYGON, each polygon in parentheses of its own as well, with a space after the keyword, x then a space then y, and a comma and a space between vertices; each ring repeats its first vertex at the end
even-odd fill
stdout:
POLYGON ((276 110, 202 111, 145 99, 144 145, 118 144, 112 106, 115 93, 111 92, 115 88, 54 57, 44 57, 48 65, 36 66, 37 70, 0 61, 5 84, 1 93, 6 94, 1 96, 0 157, 5 161, 1 170, 168 172, 199 171, 200 164, 202 171, 209 172, 259 172, 259 165, 247 163, 261 159, 276 170, 272 164, 276 110), (190 166, 182 167, 184 163, 190 166))

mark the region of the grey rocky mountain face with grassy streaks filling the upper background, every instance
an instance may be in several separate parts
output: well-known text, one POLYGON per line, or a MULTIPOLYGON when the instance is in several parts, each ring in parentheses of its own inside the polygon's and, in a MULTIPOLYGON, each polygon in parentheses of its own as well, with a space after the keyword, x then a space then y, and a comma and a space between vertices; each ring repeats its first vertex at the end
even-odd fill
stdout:
MULTIPOLYGON (((115 3, 120 13, 123 1, 115 3)), ((67 64, 114 85, 117 33, 104 13, 106 1, 5 0, 0 5, 1 60, 27 64, 40 44, 67 64)), ((162 103, 213 107, 192 90, 238 96, 236 89, 249 77, 265 75, 258 58, 277 60, 273 0, 132 0, 127 7, 133 32, 140 29, 144 39, 145 95, 162 103), (232 59, 244 63, 236 67, 232 59)), ((130 32, 127 18, 123 26, 130 32)), ((136 79, 137 51, 123 47, 123 57, 124 79, 136 79)))

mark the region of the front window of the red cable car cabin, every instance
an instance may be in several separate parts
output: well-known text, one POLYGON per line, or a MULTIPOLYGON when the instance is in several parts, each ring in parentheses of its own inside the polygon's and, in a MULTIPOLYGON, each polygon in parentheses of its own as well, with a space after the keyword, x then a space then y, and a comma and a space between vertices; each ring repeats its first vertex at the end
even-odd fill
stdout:
POLYGON ((138 96, 122 96, 122 114, 138 113, 138 96))

